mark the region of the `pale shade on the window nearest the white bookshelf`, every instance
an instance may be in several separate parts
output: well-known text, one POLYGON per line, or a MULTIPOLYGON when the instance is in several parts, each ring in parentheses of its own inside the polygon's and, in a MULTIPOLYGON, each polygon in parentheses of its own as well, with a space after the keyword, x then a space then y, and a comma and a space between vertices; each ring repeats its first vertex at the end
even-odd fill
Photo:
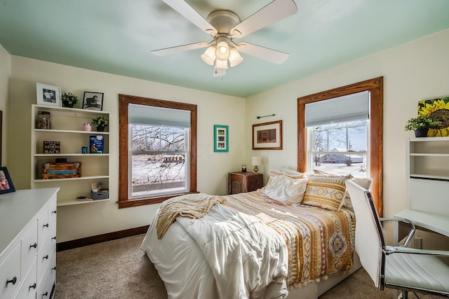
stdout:
POLYGON ((128 123, 133 125, 190 127, 190 111, 128 104, 128 123))

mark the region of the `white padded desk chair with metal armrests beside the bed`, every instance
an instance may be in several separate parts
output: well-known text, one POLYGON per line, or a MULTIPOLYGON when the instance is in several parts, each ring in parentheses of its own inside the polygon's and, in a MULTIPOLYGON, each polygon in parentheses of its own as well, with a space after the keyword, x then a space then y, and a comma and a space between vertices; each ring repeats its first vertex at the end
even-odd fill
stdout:
POLYGON ((346 182, 356 214, 356 252, 363 268, 380 290, 395 288, 408 298, 408 291, 449 297, 449 265, 438 256, 449 251, 408 248, 415 225, 407 219, 380 219, 371 193, 352 181, 346 182), (412 225, 403 246, 386 246, 380 221, 405 221, 412 225))

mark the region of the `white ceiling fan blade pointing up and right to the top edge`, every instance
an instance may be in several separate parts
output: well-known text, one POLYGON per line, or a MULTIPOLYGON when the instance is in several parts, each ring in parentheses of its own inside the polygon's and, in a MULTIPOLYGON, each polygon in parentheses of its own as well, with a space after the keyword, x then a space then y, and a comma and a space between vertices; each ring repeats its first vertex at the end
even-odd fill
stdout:
MULTIPOLYGON (((165 0, 164 0, 165 1, 165 0)), ((263 27, 273 24, 279 20, 294 15, 297 12, 295 1, 274 0, 264 8, 243 20, 239 25, 231 29, 231 34, 237 38, 247 36, 263 27)))

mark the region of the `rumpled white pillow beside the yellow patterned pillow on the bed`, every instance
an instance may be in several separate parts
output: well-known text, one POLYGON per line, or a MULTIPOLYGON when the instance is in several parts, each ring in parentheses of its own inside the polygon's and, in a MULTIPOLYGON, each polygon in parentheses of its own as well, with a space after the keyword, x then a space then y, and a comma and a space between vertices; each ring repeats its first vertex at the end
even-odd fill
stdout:
POLYGON ((264 195, 284 203, 301 203, 307 179, 292 179, 285 175, 274 176, 264 189, 264 195))

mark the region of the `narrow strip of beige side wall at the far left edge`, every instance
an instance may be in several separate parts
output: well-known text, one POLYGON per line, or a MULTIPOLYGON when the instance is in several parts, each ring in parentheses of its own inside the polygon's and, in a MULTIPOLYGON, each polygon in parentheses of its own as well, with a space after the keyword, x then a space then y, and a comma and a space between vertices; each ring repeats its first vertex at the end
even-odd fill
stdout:
POLYGON ((0 45, 0 110, 3 111, 1 134, 1 166, 8 167, 8 95, 11 76, 11 55, 0 45))

